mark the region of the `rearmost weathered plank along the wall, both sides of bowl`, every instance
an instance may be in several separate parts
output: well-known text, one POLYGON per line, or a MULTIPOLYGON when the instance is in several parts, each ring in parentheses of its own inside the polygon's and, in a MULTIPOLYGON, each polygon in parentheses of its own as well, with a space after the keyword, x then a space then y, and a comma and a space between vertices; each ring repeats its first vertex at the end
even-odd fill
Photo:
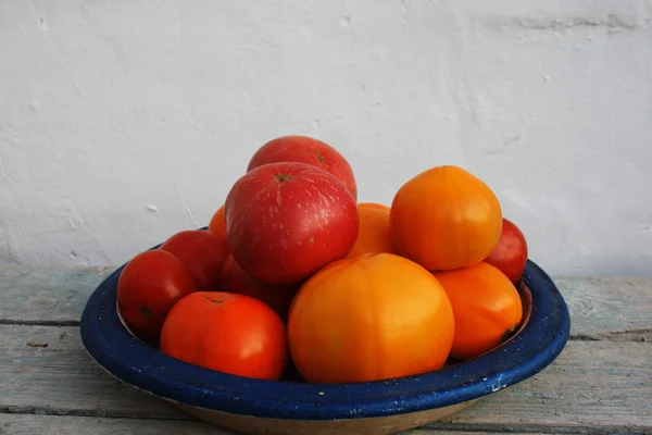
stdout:
MULTIPOLYGON (((76 324, 111 268, 0 266, 0 323, 76 324)), ((586 339, 652 339, 652 277, 556 277, 586 339)))

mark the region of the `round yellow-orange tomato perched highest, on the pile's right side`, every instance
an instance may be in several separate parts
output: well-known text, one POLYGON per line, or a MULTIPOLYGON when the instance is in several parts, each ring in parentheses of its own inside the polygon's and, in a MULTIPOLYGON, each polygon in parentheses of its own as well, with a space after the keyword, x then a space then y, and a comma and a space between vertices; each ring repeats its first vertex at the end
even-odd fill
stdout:
POLYGON ((446 271, 491 254, 501 236, 502 210, 482 181, 457 166, 437 166, 401 186, 389 221, 401 256, 446 271))

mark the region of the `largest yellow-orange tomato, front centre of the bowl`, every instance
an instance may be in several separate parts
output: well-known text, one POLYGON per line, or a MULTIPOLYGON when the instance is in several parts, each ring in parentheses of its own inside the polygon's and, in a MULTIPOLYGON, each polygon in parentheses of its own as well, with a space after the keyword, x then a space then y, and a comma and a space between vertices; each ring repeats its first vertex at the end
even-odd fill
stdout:
POLYGON ((451 303, 431 273, 392 253, 338 260, 294 296, 288 345, 312 383, 380 381, 443 366, 451 303))

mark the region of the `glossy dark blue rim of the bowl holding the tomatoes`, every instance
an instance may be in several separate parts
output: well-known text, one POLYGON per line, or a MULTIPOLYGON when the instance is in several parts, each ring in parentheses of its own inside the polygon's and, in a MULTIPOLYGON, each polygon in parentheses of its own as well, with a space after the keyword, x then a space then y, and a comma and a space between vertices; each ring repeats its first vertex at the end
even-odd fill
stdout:
MULTIPOLYGON (((154 248, 152 248, 154 249, 154 248)), ((90 296, 80 322, 84 346, 109 373, 131 386, 183 405, 227 413, 290 420, 376 418, 477 399, 548 366, 568 339, 570 319, 552 279, 528 260, 524 282, 531 312, 498 348, 423 375, 352 384, 308 384, 247 378, 167 357, 134 337, 116 310, 124 265, 90 296)))

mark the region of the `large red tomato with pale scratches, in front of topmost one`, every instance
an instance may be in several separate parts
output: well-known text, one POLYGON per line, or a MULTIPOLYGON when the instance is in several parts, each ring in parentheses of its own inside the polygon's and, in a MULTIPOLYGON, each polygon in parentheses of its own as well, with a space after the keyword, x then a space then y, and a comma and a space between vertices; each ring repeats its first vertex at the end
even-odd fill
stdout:
POLYGON ((358 238, 355 200, 334 175, 305 163, 271 163, 240 177, 224 206, 234 259, 271 285, 305 281, 344 258, 358 238))

